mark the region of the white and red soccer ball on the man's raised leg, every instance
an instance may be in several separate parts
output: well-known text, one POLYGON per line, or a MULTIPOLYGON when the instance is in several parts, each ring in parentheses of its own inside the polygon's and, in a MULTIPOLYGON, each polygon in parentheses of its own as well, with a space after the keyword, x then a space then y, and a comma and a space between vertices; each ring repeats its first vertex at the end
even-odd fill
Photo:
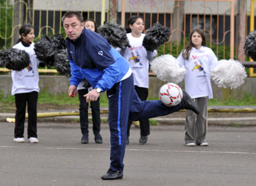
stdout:
POLYGON ((159 90, 159 98, 166 106, 173 107, 181 102, 183 92, 175 83, 166 83, 159 90))

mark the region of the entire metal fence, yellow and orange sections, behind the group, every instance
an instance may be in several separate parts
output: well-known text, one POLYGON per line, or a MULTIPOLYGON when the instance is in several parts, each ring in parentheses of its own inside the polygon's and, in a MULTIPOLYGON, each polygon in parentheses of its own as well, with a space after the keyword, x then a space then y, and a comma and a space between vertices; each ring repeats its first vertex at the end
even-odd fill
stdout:
MULTIPOLYGON (((17 41, 17 31, 24 22, 35 26, 36 39, 43 34, 65 34, 61 17, 70 10, 81 12, 84 18, 95 19, 99 25, 109 20, 109 4, 105 0, 42 0, 42 4, 39 0, 32 1, 33 4, 26 3, 29 0, 15 1, 14 4, 9 4, 8 0, 2 1, 5 2, 0 7, 0 48, 9 48, 17 41)), ((127 19, 132 15, 140 15, 144 18, 145 30, 155 22, 171 29, 170 41, 159 48, 159 54, 170 53, 174 57, 178 56, 188 40, 191 29, 199 27, 205 31, 207 46, 213 49, 219 59, 234 58, 237 30, 234 0, 116 1, 121 4, 121 7, 117 8, 117 23, 122 26, 126 26, 127 19)))

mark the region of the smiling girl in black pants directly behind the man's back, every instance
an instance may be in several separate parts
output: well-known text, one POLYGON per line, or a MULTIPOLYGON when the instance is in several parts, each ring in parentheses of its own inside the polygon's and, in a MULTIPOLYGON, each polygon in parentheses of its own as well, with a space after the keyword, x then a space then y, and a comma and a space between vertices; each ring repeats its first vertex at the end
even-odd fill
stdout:
MULTIPOLYGON (((139 98, 146 100, 149 93, 149 62, 156 56, 157 52, 146 51, 142 46, 145 34, 144 21, 140 16, 132 16, 128 19, 128 28, 126 28, 127 38, 129 39, 130 48, 117 48, 122 56, 129 62, 129 66, 134 75, 134 86, 139 98)), ((130 127, 132 120, 129 120, 127 125, 127 143, 129 144, 130 127)), ((140 140, 145 144, 147 135, 150 134, 149 119, 140 120, 140 140)))

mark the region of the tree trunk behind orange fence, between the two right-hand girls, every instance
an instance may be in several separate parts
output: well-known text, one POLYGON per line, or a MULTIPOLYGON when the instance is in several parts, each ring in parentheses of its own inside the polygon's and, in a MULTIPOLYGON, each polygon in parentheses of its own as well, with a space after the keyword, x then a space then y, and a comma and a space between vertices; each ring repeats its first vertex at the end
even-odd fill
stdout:
POLYGON ((184 23, 184 4, 185 1, 175 1, 174 12, 173 12, 173 29, 171 34, 171 41, 178 42, 181 41, 181 32, 180 29, 183 29, 184 23))

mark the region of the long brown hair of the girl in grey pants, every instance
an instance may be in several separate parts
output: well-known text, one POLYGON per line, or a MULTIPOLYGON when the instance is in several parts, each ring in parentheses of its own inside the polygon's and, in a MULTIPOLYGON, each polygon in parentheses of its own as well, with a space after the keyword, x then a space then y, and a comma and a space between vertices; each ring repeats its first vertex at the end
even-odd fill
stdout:
POLYGON ((202 37, 202 46, 206 46, 206 40, 205 40, 204 32, 200 28, 194 28, 190 33, 189 42, 186 44, 185 48, 182 51, 182 57, 186 60, 189 60, 190 51, 191 51, 192 47, 195 47, 194 44, 192 43, 192 39, 191 39, 194 32, 197 32, 201 35, 201 37, 202 37))

